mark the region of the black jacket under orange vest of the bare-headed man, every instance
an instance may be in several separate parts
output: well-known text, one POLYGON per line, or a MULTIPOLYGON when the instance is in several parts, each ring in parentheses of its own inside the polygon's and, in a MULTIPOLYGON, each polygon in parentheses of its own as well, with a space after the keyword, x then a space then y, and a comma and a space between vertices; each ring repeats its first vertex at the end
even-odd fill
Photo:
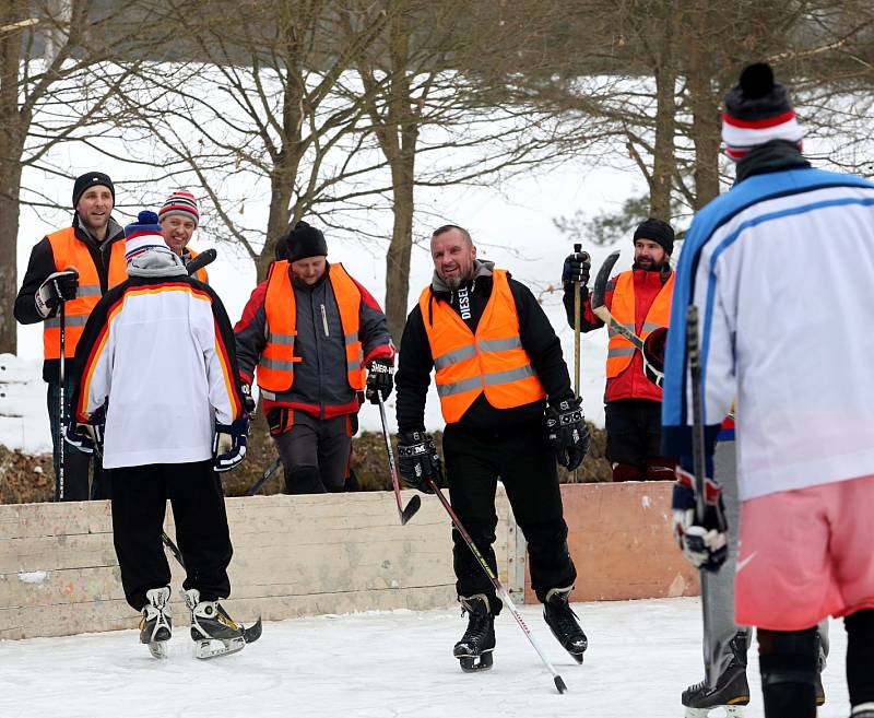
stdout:
MULTIPOLYGON (((476 273, 456 292, 450 292, 436 275, 432 281, 433 297, 442 299, 459 314, 471 331, 476 331, 480 317, 492 296, 492 262, 476 262, 476 273), (462 313, 462 305, 465 311, 462 313), (469 313, 468 313, 469 307, 469 313), (465 316, 469 314, 470 316, 465 316)), ((519 336, 531 364, 543 384, 550 402, 570 399, 570 377, 562 355, 562 343, 555 334, 534 295, 524 285, 509 279, 510 292, 519 314, 519 336)), ((425 399, 430 384, 434 357, 430 353, 428 336, 425 331, 418 304, 410 313, 401 340, 397 387, 398 429, 411 432, 424 428, 425 399)), ((535 401, 515 409, 495 409, 480 395, 471 404, 459 424, 469 428, 494 429, 543 421, 545 402, 535 401)))

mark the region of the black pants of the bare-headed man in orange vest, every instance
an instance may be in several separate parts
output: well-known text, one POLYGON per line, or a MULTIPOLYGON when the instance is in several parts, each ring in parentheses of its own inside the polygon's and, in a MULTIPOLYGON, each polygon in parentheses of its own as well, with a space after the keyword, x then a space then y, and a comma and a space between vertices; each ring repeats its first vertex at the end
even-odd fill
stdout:
MULTIPOLYGON (((555 455, 542 423, 496 431, 449 424, 444 432, 444 458, 452 508, 493 570, 499 478, 528 541, 531 584, 538 599, 545 600, 552 588, 574 585, 577 570, 567 546, 555 455)), ((454 529, 452 541, 458 595, 485 593, 498 613, 501 604, 492 581, 454 529)))

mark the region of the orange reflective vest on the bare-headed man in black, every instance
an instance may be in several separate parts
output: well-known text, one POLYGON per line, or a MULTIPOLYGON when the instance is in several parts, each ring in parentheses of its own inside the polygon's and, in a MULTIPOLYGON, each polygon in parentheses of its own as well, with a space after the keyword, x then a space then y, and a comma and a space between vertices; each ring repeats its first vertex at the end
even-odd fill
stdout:
POLYGON ((447 424, 458 422, 483 392, 495 409, 512 409, 546 398, 531 357, 522 348, 507 271, 493 270, 492 278, 492 296, 475 334, 449 304, 437 297, 430 301, 430 286, 418 297, 447 424))

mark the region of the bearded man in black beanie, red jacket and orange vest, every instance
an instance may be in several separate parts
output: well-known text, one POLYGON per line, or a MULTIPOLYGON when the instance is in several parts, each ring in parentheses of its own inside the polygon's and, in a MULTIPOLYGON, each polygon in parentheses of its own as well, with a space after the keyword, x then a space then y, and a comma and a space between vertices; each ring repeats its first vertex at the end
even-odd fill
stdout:
MULTIPOLYGON (((604 305, 619 323, 642 340, 669 323, 674 274, 670 258, 674 231, 661 220, 649 219, 634 234, 635 263, 613 276, 606 285, 604 305)), ((574 326, 574 285, 580 287, 580 331, 589 332, 604 322, 592 311, 586 283, 591 266, 588 255, 575 254, 565 260, 565 310, 574 326)), ((663 457, 661 443, 662 389, 643 370, 642 354, 612 328, 607 348, 607 386, 604 414, 607 431, 606 457, 613 464, 613 481, 674 479, 674 461, 663 457)), ((657 337, 664 331, 658 332, 657 337)), ((663 338, 662 338, 663 341, 663 338)))

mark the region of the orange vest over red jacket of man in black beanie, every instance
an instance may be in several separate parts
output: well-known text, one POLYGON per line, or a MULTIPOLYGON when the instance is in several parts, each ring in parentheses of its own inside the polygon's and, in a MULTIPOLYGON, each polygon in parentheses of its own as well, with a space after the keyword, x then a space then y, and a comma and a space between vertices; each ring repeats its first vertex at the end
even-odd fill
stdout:
MULTIPOLYGON (((668 327, 671 321, 671 297, 674 294, 674 272, 656 295, 643 320, 643 328, 637 336, 646 340, 650 332, 660 327, 668 327)), ((613 290, 613 302, 610 313, 621 325, 625 325, 631 332, 637 333, 635 322, 635 275, 634 271, 623 272, 616 280, 613 290)), ((631 363, 635 345, 625 337, 607 328, 610 344, 607 344, 607 378, 619 376, 631 363)))

